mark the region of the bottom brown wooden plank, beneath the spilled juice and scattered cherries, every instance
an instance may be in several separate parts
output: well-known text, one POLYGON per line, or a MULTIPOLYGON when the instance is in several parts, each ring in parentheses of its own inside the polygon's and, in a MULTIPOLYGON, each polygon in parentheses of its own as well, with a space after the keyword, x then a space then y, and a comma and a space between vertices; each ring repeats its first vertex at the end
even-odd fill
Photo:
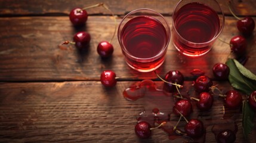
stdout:
MULTIPOLYGON (((140 142, 135 136, 134 126, 141 111, 150 113, 152 107, 165 115, 173 105, 172 96, 159 94, 154 100, 144 97, 127 101, 122 96, 125 88, 134 82, 118 82, 115 88, 104 88, 100 82, 30 82, 0 84, 0 141, 2 142, 140 142)), ((214 82, 217 84, 217 82, 214 82)), ((161 89, 162 82, 156 82, 161 89)), ((228 82, 218 82, 221 91, 232 89, 228 82)), ((181 94, 193 92, 192 82, 185 82, 181 94)), ((192 101, 193 113, 206 126, 206 142, 215 142, 211 128, 218 123, 238 124, 236 142, 245 142, 242 135, 242 113, 226 110, 223 118, 223 99, 215 96, 211 111, 199 111, 192 101), (227 122, 229 120, 229 122, 227 122)), ((165 117, 165 116, 164 116, 165 117)), ((178 117, 171 115, 170 126, 178 117)), ((255 120, 256 121, 256 120, 255 120)), ((225 125, 225 126, 226 126, 225 125)), ((183 129, 184 121, 180 128, 183 129)), ((253 130, 248 141, 255 141, 253 130)), ((183 142, 178 138, 175 142, 183 142)), ((169 142, 168 135, 156 129, 144 142, 169 142)))

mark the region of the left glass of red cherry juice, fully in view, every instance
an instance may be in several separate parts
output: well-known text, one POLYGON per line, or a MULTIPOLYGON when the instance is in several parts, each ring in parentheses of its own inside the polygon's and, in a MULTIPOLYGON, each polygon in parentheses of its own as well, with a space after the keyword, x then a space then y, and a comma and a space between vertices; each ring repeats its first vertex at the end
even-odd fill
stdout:
POLYGON ((125 61, 141 72, 153 71, 164 63, 170 37, 165 18, 147 8, 131 11, 118 27, 118 41, 125 61))

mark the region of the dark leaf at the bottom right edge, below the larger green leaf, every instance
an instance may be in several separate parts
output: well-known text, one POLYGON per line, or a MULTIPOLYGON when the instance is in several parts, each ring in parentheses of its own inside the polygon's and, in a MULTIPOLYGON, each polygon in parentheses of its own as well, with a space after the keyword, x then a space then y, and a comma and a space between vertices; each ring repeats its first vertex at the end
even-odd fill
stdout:
POLYGON ((242 126, 243 126, 243 135, 245 138, 248 138, 249 133, 251 133, 252 129, 254 129, 254 110, 252 110, 251 107, 249 107, 248 102, 245 100, 243 101, 243 120, 242 120, 242 126))

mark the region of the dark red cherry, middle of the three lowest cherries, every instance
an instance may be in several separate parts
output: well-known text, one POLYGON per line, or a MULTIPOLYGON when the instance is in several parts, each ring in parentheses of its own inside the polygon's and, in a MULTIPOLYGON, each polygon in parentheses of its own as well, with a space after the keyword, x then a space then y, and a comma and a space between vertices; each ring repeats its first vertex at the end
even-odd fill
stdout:
POLYGON ((203 135, 203 123, 198 119, 191 119, 185 126, 185 132, 192 138, 203 135))

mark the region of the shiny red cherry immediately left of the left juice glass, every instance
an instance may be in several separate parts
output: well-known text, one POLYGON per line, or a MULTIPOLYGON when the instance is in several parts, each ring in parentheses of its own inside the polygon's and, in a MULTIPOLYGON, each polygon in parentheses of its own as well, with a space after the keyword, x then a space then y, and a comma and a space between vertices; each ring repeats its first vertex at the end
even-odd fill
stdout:
POLYGON ((103 41, 98 43, 97 52, 98 54, 103 57, 107 58, 113 54, 114 48, 113 45, 107 41, 103 41))

